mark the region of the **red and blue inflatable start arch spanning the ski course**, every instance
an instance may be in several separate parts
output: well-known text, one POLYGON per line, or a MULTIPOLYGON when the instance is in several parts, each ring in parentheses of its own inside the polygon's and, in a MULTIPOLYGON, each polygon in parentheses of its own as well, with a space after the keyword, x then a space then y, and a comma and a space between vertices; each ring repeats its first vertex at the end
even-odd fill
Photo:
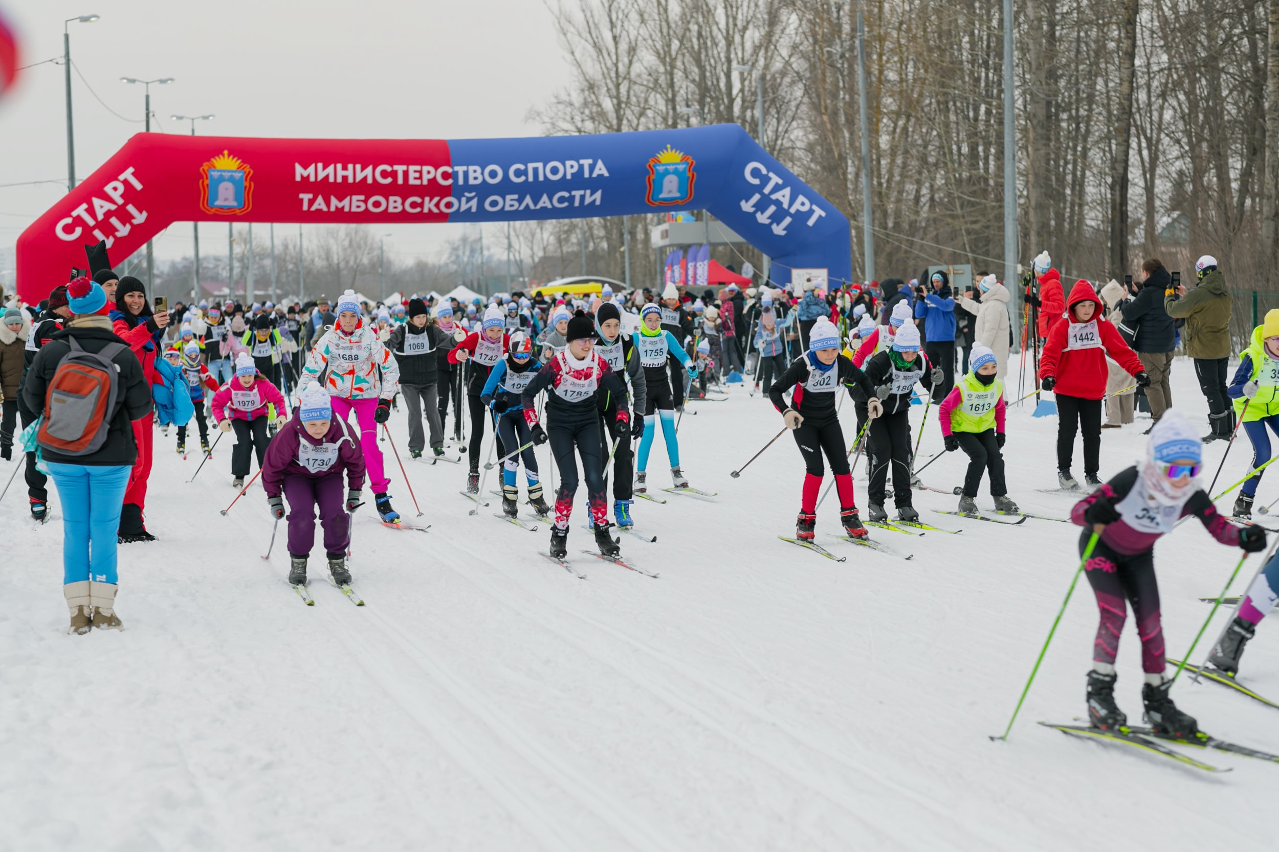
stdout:
POLYGON ((18 238, 35 303, 173 222, 501 222, 707 209, 790 268, 851 276, 848 220, 735 124, 523 139, 255 139, 139 133, 18 238))

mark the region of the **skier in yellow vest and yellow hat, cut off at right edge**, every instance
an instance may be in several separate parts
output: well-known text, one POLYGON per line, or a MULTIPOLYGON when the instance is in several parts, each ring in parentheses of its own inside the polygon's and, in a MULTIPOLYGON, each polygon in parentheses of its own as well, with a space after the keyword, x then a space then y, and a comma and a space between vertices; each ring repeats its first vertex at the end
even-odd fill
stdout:
MULTIPOLYGON (((1266 312, 1265 322, 1252 330, 1252 342, 1239 355, 1239 369, 1227 388, 1234 414, 1252 443, 1252 468, 1270 461, 1270 436, 1279 434, 1279 309, 1266 312), (1243 406, 1247 405, 1247 409, 1243 406)), ((1261 484, 1261 471, 1248 478, 1234 499, 1236 517, 1252 517, 1252 498, 1261 484)))

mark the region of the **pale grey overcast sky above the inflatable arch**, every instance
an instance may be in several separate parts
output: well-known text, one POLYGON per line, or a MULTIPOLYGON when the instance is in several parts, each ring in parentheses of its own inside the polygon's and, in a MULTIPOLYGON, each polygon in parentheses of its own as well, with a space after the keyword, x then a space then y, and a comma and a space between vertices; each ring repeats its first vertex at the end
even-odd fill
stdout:
MULTIPOLYGON (((120 77, 175 79, 151 87, 152 132, 189 133, 189 123, 169 116, 212 112, 196 133, 393 139, 537 135, 528 110, 569 80, 540 0, 0 0, 0 8, 18 31, 23 65, 63 55, 65 18, 101 15, 68 24, 79 180, 143 128, 143 88, 120 77)), ((0 101, 8 281, 18 234, 67 192, 64 92, 63 66, 49 63, 22 72, 0 101), (37 180, 58 183, 5 185, 37 180)), ((412 261, 434 257, 457 227, 381 232, 393 234, 388 254, 412 261)), ((212 239, 202 235, 202 254, 216 250, 205 247, 212 239)), ((191 227, 170 227, 155 245, 160 258, 189 255, 191 227)))

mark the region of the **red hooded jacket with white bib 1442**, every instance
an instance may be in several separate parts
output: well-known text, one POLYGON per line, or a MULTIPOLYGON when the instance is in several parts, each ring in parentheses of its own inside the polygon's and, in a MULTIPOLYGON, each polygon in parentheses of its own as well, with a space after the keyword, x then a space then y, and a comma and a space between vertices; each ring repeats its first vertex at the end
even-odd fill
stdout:
POLYGON ((1049 332, 1048 342, 1044 344, 1044 354, 1040 356, 1040 378, 1053 376, 1056 378, 1056 393, 1078 396, 1085 400, 1100 400, 1106 395, 1106 355, 1115 359, 1119 367, 1128 370, 1129 376, 1136 376, 1142 369, 1141 360, 1136 353, 1123 342, 1119 330, 1102 317, 1101 299, 1092 290, 1092 285, 1079 278, 1071 287, 1071 319, 1059 322, 1049 332), (1079 323, 1074 316, 1074 305, 1081 301, 1091 301, 1096 305, 1092 319, 1079 323), (1076 333, 1072 344, 1072 326, 1076 333))

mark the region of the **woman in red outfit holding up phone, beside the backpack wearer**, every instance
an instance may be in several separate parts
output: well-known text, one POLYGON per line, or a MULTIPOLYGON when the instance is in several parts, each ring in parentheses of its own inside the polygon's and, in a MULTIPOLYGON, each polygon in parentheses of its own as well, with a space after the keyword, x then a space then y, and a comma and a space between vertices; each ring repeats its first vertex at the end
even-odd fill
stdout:
MULTIPOLYGON (((160 351, 160 336, 169 324, 169 312, 153 313, 147 303, 146 289, 132 275, 120 278, 115 289, 115 310, 111 312, 111 331, 129 345, 133 354, 142 361, 142 374, 147 384, 162 384, 156 373, 156 354, 160 351)), ((153 542, 155 535, 147 533, 142 512, 147 502, 147 479, 151 476, 151 425, 155 414, 148 411, 139 420, 133 420, 133 439, 138 445, 138 457, 129 473, 129 487, 124 492, 124 510, 120 512, 120 544, 130 542, 153 542)))

